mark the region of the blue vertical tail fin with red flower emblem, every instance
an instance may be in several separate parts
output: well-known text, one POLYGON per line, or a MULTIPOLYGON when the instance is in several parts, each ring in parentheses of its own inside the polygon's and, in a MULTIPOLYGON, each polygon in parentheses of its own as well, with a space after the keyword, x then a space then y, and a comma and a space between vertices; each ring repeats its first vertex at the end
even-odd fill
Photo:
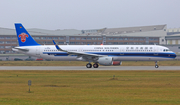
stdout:
POLYGON ((26 31, 21 23, 15 23, 17 39, 19 42, 19 46, 39 46, 31 35, 26 31))

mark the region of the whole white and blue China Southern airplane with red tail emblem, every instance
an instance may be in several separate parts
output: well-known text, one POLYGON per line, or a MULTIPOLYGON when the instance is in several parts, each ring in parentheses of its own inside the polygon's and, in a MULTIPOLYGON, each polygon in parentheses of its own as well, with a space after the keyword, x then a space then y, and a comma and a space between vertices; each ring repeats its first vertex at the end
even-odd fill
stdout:
POLYGON ((86 61, 87 68, 99 65, 121 65, 122 61, 173 60, 176 54, 160 45, 40 45, 27 32, 21 23, 15 23, 19 46, 13 51, 29 56, 59 61, 86 61), (94 64, 92 65, 91 62, 94 64))

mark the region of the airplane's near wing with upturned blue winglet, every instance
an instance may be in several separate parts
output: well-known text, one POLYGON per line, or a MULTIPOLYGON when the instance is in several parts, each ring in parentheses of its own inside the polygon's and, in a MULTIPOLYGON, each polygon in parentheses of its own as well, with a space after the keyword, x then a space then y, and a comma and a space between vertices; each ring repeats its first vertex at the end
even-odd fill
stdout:
POLYGON ((84 52, 66 51, 66 50, 61 49, 54 40, 53 40, 53 43, 57 50, 62 51, 62 52, 67 52, 70 55, 77 55, 77 56, 81 56, 81 57, 103 57, 103 56, 106 56, 106 55, 98 55, 98 54, 89 54, 89 53, 84 53, 84 52))

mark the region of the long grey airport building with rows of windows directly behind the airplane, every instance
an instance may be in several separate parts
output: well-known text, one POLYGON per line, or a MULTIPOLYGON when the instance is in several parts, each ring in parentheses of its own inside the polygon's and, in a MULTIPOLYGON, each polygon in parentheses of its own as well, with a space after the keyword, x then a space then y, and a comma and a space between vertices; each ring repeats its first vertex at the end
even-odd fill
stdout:
MULTIPOLYGON (((168 38, 172 36, 166 30, 166 25, 91 30, 27 29, 41 45, 52 45, 52 40, 59 45, 166 45, 170 43, 168 38)), ((0 28, 0 54, 15 53, 11 50, 15 46, 18 46, 15 29, 0 28)))

